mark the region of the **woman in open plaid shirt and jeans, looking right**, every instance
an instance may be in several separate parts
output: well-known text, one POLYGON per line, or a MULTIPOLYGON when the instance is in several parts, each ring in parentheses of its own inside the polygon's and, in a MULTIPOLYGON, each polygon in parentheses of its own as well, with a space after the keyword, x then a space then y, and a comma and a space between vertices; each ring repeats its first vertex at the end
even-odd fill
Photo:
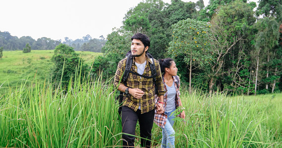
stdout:
MULTIPOLYGON (((164 105, 164 110, 155 111, 154 122, 163 129, 162 148, 174 148, 174 129, 172 128, 175 115, 173 111, 182 106, 179 98, 180 81, 177 74, 177 68, 174 61, 170 58, 159 60, 161 71, 163 74, 163 83, 165 86, 164 102, 160 102, 159 98, 156 99, 157 106, 164 105)), ((177 116, 185 118, 185 112, 182 111, 177 116)))

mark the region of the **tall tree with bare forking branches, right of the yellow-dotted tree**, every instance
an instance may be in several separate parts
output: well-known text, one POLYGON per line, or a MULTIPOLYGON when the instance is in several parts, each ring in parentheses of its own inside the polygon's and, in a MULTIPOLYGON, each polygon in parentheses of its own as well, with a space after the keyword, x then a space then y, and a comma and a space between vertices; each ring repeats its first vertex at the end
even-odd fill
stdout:
MULTIPOLYGON (((211 20, 212 28, 209 36, 212 39, 212 56, 206 65, 207 76, 210 79, 210 92, 213 91, 218 78, 224 79, 225 66, 228 66, 228 56, 240 41, 246 40, 255 22, 252 7, 240 0, 220 7, 211 20)), ((237 52, 239 53, 239 52, 237 52)))

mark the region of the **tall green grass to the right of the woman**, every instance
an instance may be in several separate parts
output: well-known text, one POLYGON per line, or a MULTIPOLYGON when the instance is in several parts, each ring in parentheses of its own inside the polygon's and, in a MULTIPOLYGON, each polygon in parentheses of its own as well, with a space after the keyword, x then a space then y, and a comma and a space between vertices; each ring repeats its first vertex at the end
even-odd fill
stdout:
POLYGON ((282 94, 264 97, 182 92, 186 123, 176 148, 282 148, 282 94))

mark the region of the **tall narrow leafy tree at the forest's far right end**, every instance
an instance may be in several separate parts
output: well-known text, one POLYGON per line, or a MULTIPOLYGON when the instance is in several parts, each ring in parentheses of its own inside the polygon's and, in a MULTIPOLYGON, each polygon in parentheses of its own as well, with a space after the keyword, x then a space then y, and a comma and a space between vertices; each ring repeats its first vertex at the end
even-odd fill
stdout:
MULTIPOLYGON (((274 74, 277 74, 275 67, 278 67, 278 65, 273 63, 277 61, 277 59, 281 59, 281 57, 277 57, 277 54, 274 54, 277 53, 274 47, 278 44, 280 35, 279 25, 274 17, 265 17, 256 23, 256 29, 258 32, 255 37, 254 55, 258 61, 257 71, 258 74, 260 74, 257 75, 257 77, 261 79, 261 83, 259 83, 260 86, 266 86, 266 90, 261 92, 269 92, 270 90, 267 90, 267 86, 271 83, 275 83, 279 78, 278 75, 274 74)), ((277 49, 279 50, 279 48, 277 49)))

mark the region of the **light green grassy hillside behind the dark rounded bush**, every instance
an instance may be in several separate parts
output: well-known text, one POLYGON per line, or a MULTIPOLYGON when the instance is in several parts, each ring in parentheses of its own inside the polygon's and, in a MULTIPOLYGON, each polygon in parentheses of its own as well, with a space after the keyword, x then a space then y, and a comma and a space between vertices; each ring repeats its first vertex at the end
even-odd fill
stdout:
MULTIPOLYGON (((89 66, 94 58, 102 53, 76 51, 89 66)), ((0 60, 0 89, 15 87, 22 79, 48 80, 51 76, 53 63, 51 58, 54 50, 32 50, 30 53, 22 51, 4 51, 0 60)))

